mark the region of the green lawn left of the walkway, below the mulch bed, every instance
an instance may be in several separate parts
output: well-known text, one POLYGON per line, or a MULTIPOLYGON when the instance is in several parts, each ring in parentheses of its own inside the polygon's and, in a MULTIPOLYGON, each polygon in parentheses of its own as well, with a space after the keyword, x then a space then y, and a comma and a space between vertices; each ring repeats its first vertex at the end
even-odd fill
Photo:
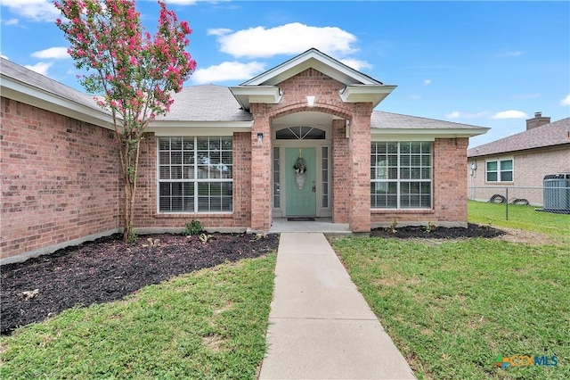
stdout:
POLYGON ((265 354, 275 254, 175 277, 2 337, 8 378, 248 378, 265 354))

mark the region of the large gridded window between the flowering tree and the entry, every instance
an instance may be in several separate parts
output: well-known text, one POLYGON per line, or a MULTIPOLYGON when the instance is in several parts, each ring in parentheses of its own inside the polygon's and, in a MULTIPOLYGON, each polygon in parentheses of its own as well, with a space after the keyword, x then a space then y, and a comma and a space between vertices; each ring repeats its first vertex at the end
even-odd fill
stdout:
POLYGON ((232 137, 159 137, 159 212, 232 211, 232 137))

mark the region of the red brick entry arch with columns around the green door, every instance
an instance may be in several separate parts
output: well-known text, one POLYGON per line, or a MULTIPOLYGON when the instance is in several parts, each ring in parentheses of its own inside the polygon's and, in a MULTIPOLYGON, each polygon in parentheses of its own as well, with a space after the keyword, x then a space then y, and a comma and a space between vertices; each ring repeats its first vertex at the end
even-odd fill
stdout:
MULTIPOLYGON (((354 231, 370 231, 370 207, 366 204, 370 204, 372 103, 344 103, 338 91, 346 86, 314 69, 304 70, 284 80, 278 87, 283 91, 279 103, 251 105, 255 120, 252 139, 255 140, 259 131, 268 133, 272 120, 290 113, 324 112, 342 118, 334 120, 331 126, 333 219, 335 222, 348 222, 354 231), (306 96, 315 96, 313 107, 308 106, 306 96), (347 140, 345 120, 354 124, 347 140), (369 148, 366 149, 366 146, 369 148), (352 169, 352 173, 347 168, 352 169)), ((263 199, 259 197, 252 203, 251 227, 263 230, 271 225, 271 145, 269 142, 265 144, 264 140, 263 149, 260 150, 252 147, 252 167, 259 165, 266 174, 263 177, 252 174, 257 176, 255 179, 252 177, 252 194, 256 194, 257 189, 263 189, 264 195, 263 199)))

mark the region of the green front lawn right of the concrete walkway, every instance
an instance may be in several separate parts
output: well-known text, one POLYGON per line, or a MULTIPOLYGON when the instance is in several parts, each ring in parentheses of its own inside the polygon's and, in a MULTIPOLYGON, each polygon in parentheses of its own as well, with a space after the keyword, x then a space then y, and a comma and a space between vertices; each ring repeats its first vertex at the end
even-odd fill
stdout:
POLYGON ((333 246, 419 378, 570 378, 570 246, 348 237, 333 246), (557 367, 494 366, 557 355, 557 367))

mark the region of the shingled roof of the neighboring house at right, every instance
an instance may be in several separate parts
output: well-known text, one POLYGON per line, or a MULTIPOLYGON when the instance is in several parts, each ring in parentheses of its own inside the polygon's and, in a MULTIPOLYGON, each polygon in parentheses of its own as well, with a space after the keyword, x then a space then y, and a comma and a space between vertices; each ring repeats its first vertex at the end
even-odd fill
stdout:
POLYGON ((570 118, 554 121, 517 133, 517 135, 476 146, 468 150, 468 157, 525 151, 556 145, 569 145, 570 147, 570 118))

